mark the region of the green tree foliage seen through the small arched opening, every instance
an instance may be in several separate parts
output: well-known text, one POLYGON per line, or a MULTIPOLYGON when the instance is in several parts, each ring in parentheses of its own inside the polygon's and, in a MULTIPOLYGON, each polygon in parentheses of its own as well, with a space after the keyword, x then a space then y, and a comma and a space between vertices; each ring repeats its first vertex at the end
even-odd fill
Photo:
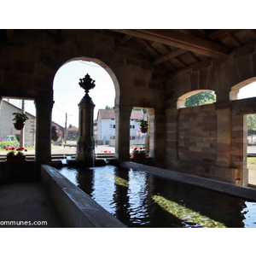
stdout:
POLYGON ((216 102, 216 96, 214 94, 214 91, 206 90, 206 91, 197 93, 193 96, 190 96, 185 102, 185 107, 194 107, 194 106, 200 106, 205 104, 212 104, 213 102, 216 102))

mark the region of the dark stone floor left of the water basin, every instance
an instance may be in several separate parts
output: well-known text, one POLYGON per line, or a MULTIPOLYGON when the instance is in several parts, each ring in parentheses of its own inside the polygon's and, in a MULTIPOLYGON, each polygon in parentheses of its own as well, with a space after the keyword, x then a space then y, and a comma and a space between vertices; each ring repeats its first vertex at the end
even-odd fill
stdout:
POLYGON ((63 227, 41 183, 0 185, 0 228, 63 227))

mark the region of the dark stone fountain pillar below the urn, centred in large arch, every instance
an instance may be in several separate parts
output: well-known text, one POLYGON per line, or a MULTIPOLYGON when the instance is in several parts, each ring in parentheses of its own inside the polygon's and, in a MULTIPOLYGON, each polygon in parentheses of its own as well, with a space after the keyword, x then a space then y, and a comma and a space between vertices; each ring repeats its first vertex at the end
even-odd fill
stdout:
POLYGON ((90 96, 85 95, 79 103, 79 140, 77 160, 84 161, 86 166, 93 166, 94 138, 93 138, 93 111, 94 103, 90 96))

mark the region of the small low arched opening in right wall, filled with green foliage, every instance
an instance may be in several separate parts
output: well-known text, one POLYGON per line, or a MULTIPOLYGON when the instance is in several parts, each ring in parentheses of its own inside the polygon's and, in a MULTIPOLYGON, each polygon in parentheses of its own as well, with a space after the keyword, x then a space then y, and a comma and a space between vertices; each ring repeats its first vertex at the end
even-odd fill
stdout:
POLYGON ((216 102, 213 90, 193 90, 177 99, 177 109, 212 104, 213 102, 216 102))

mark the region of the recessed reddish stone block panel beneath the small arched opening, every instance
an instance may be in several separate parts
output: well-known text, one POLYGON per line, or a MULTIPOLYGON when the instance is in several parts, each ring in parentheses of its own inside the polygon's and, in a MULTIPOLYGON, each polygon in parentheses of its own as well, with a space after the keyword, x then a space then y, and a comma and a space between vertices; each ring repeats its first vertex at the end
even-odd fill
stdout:
POLYGON ((178 114, 178 159, 215 164, 217 115, 215 106, 182 108, 178 114))

